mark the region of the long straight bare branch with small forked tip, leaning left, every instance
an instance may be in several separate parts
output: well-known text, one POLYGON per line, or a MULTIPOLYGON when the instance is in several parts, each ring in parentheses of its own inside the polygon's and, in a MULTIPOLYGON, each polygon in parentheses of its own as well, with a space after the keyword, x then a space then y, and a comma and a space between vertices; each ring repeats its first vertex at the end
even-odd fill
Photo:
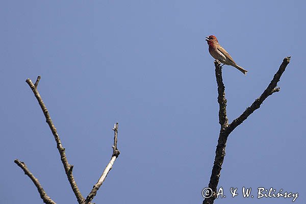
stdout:
POLYGON ((52 122, 52 119, 49 115, 49 112, 46 108, 46 106, 44 105, 43 101, 42 101, 42 98, 37 90, 37 86, 38 86, 38 83, 39 83, 39 80, 40 80, 40 76, 37 77, 37 80, 35 82, 35 84, 33 84, 33 82, 30 80, 30 79, 27 79, 25 80, 25 82, 28 83, 28 85, 30 86, 30 88, 32 89, 39 105, 40 105, 40 108, 46 118, 46 122, 48 123, 49 127, 50 127, 50 130, 52 131, 52 134, 55 138, 55 141, 57 143, 57 148, 59 150, 59 153, 60 153, 60 156, 61 156, 61 161, 64 165, 64 169, 65 169, 65 172, 66 172, 66 175, 67 175, 67 178, 68 178, 68 181, 70 183, 70 186, 74 192, 74 195, 75 197, 77 197, 78 199, 78 202, 79 203, 84 203, 84 197, 82 196, 78 186, 77 186, 77 183, 75 183, 74 181, 74 177, 72 175, 72 169, 73 169, 73 166, 70 165, 68 163, 68 160, 67 160, 67 157, 66 157, 66 154, 65 154, 65 148, 62 146, 62 142, 60 140, 60 137, 57 133, 57 130, 56 130, 56 127, 54 126, 53 122, 52 122))

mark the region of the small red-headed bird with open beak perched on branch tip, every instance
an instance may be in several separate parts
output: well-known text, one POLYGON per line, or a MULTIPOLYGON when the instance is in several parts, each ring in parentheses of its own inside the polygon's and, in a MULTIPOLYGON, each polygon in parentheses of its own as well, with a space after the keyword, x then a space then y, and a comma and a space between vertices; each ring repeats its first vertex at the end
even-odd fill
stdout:
MULTIPOLYGON (((210 35, 206 37, 205 39, 209 45, 209 53, 213 58, 216 60, 219 60, 221 63, 226 64, 226 65, 231 65, 233 67, 236 67, 239 71, 242 73, 246 74, 247 70, 243 69, 241 66, 237 65, 236 62, 233 60, 233 58, 226 52, 226 50, 221 47, 219 44, 216 36, 210 35)), ((222 66, 223 66, 222 65, 222 66)))

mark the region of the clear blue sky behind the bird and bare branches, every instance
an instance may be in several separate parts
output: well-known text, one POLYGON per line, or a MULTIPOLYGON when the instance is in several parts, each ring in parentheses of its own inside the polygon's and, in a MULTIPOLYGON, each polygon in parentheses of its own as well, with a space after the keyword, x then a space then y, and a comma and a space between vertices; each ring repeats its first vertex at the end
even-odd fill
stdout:
POLYGON ((228 138, 215 203, 305 203, 305 1, 2 1, 0 203, 42 203, 19 159, 57 203, 77 203, 27 78, 57 127, 84 196, 119 158, 96 203, 202 203, 218 124, 217 36, 248 70, 224 66, 230 122, 291 56, 278 86, 228 138), (238 188, 232 198, 230 188, 238 188), (243 198, 242 187, 254 198, 243 198))

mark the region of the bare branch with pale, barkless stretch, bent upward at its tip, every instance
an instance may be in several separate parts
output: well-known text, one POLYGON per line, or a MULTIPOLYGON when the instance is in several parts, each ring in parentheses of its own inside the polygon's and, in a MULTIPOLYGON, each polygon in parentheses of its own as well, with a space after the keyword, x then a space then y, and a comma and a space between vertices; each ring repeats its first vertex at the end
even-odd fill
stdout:
POLYGON ((119 150, 117 149, 118 122, 114 125, 113 131, 114 131, 114 145, 112 146, 113 154, 112 154, 111 161, 108 163, 108 165, 104 169, 102 175, 100 176, 98 182, 93 186, 91 192, 86 197, 86 200, 85 200, 86 204, 90 203, 91 200, 94 198, 94 196, 97 194, 97 191, 99 190, 99 188, 101 187, 101 185, 105 181, 106 176, 108 175, 110 170, 113 168, 114 162, 116 161, 117 157, 120 154, 119 150))

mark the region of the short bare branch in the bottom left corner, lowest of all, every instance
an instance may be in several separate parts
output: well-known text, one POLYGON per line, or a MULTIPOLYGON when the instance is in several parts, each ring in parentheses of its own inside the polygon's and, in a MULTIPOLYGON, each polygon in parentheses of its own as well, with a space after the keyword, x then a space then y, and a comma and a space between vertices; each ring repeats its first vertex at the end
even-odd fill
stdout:
POLYGON ((40 185, 38 179, 36 179, 36 177, 31 173, 31 171, 28 169, 27 165, 25 165, 23 162, 15 159, 14 161, 23 171, 24 174, 28 175, 30 177, 30 179, 32 180, 32 182, 34 183, 34 185, 36 186, 41 199, 43 200, 44 203, 46 204, 56 204, 55 201, 53 201, 44 191, 44 189, 42 188, 42 186, 40 185))

